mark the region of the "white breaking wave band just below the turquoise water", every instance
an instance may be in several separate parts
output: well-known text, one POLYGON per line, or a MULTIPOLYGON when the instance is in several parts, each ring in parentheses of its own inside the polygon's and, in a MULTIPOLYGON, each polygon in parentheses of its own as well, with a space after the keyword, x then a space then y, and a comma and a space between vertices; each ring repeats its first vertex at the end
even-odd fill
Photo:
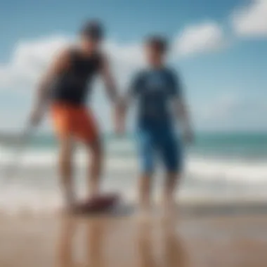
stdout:
MULTIPOLYGON (((0 164, 2 167, 12 164, 14 160, 22 167, 56 167, 58 162, 55 149, 26 150, 21 157, 15 158, 11 150, 0 148, 0 164)), ((105 155, 105 168, 107 171, 136 172, 138 158, 123 155, 105 155)), ((84 150, 79 150, 75 157, 78 166, 85 166, 89 160, 84 150)), ((211 158, 188 156, 185 160, 185 175, 204 180, 227 180, 244 183, 267 182, 267 164, 263 160, 245 161, 241 159, 211 158)))

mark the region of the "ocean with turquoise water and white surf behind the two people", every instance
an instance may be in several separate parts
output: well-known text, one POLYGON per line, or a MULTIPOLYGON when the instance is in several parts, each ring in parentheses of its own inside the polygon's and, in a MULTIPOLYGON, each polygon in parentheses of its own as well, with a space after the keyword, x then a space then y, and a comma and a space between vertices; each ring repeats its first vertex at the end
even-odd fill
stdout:
MULTIPOLYGON (((134 135, 106 134, 105 191, 118 191, 136 200, 139 174, 134 135)), ((58 145, 53 136, 34 136, 20 157, 14 158, 13 137, 0 136, 0 210, 51 211, 62 202, 57 174, 58 145), (6 172, 17 162, 12 176, 6 172)), ((87 151, 77 145, 75 181, 78 194, 86 195, 87 151)), ((155 198, 164 180, 163 168, 155 175, 155 198)), ((267 133, 197 133, 185 148, 185 168, 177 190, 180 201, 267 200, 267 133)))

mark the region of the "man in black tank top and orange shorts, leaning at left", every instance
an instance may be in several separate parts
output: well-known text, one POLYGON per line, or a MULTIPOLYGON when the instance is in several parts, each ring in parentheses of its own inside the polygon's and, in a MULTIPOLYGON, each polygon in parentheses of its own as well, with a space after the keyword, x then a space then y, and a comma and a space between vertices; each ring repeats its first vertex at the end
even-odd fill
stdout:
POLYGON ((48 100, 51 117, 60 143, 59 169, 67 208, 75 207, 72 184, 72 145, 77 138, 91 152, 89 168, 89 197, 98 195, 102 169, 100 133, 93 111, 86 108, 87 95, 93 79, 100 74, 112 103, 117 90, 110 74, 108 60, 100 51, 103 27, 99 22, 87 22, 80 32, 79 44, 60 53, 41 80, 31 122, 40 122, 48 100))

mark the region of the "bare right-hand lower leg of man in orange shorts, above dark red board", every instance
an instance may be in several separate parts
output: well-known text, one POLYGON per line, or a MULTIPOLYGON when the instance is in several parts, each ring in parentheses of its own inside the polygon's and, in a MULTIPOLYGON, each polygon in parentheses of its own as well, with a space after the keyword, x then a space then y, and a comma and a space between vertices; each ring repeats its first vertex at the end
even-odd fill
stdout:
POLYGON ((89 164, 89 177, 88 177, 88 186, 89 186, 89 197, 98 195, 100 191, 100 176, 102 173, 103 165, 103 152, 102 144, 100 138, 93 141, 89 145, 89 152, 91 153, 91 161, 89 164))

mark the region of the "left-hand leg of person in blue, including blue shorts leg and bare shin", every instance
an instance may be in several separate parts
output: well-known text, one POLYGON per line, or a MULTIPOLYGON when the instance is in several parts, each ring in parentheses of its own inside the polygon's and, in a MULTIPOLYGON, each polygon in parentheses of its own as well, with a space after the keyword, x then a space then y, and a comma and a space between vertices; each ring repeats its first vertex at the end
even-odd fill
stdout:
POLYGON ((154 169, 154 147, 152 136, 148 131, 141 131, 138 137, 142 171, 138 183, 139 205, 141 209, 147 210, 150 208, 152 174, 154 169))

